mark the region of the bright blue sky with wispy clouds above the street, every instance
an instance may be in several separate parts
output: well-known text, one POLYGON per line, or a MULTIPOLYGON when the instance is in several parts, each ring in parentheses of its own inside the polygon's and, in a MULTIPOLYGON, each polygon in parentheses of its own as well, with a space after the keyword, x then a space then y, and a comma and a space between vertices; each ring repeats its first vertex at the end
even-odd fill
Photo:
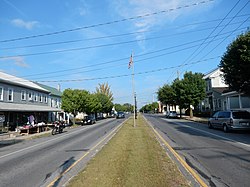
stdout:
POLYGON ((140 108, 185 72, 217 68, 249 10, 249 0, 0 0, 0 71, 62 91, 108 83, 120 104, 133 103, 134 82, 140 108))

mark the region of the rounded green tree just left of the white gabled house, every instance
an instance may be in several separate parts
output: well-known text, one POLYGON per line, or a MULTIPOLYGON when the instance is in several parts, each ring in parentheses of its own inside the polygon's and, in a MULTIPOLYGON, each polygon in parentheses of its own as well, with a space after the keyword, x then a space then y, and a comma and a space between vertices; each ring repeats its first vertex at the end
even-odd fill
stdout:
POLYGON ((206 96, 206 83, 202 79, 203 75, 201 73, 186 72, 182 80, 184 86, 184 99, 185 104, 188 105, 190 111, 190 117, 193 117, 192 106, 197 106, 201 100, 206 96))

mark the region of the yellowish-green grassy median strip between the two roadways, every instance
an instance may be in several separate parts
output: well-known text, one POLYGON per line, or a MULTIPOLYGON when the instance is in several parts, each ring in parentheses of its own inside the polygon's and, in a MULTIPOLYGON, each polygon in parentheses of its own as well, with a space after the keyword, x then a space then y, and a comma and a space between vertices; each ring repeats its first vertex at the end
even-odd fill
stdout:
POLYGON ((130 118, 69 186, 189 186, 141 116, 130 118))

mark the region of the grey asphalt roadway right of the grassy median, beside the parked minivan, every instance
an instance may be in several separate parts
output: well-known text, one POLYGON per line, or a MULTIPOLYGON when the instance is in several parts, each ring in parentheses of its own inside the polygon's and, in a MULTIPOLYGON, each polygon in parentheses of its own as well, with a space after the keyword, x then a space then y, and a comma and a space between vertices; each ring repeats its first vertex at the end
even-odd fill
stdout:
POLYGON ((191 121, 145 117, 209 186, 250 186, 250 132, 224 133, 191 121))

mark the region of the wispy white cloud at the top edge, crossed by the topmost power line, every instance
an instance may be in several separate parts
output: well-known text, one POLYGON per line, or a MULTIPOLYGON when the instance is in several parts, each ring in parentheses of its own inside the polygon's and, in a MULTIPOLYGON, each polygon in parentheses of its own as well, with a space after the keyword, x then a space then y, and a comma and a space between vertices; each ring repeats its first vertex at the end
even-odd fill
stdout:
POLYGON ((128 0, 127 2, 120 0, 115 1, 113 6, 116 12, 124 18, 159 12, 159 14, 145 16, 144 18, 135 19, 133 21, 133 26, 136 29, 145 30, 155 26, 165 25, 167 22, 172 22, 180 15, 185 15, 187 13, 194 14, 194 10, 197 9, 198 6, 200 10, 204 7, 210 7, 211 5, 210 3, 204 3, 202 7, 200 5, 193 6, 196 2, 198 2, 198 0, 128 0), (185 5, 190 5, 190 7, 177 9, 185 5), (173 11, 170 11, 171 9, 173 11), (160 13, 160 11, 167 12, 160 13))

